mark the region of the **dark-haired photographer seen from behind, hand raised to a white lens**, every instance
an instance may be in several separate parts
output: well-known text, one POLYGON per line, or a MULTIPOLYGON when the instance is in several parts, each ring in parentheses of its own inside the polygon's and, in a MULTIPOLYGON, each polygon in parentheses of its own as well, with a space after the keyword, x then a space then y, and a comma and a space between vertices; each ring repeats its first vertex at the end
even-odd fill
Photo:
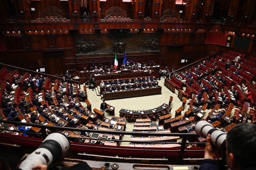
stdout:
MULTIPOLYGON (((233 127, 226 138, 226 159, 232 170, 256 169, 256 126, 254 124, 241 123, 233 127)), ((200 170, 226 169, 220 166, 216 160, 219 159, 219 150, 211 144, 211 135, 206 138, 204 160, 200 170)))

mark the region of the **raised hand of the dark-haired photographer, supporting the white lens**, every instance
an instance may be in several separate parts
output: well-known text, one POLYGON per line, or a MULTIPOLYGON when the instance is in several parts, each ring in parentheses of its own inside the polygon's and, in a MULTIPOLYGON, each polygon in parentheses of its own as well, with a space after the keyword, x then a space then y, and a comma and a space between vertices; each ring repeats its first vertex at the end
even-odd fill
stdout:
POLYGON ((211 144, 211 135, 208 134, 206 138, 206 145, 204 151, 204 159, 219 159, 219 150, 216 146, 211 144))

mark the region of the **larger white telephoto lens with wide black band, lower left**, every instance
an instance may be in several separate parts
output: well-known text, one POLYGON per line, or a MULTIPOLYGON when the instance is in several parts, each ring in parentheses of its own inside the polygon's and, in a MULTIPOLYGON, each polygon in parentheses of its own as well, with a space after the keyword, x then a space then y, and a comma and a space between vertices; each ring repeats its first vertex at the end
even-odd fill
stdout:
POLYGON ((20 163, 22 170, 31 170, 37 165, 50 165, 66 156, 69 151, 69 140, 61 133, 51 133, 43 143, 20 163))

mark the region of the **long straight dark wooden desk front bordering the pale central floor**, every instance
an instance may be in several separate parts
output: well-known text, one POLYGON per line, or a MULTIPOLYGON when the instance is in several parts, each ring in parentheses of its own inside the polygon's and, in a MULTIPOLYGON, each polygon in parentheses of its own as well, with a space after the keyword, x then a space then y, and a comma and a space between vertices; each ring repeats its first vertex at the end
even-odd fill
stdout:
POLYGON ((103 92, 103 99, 104 100, 114 100, 114 99, 126 99, 126 98, 133 98, 133 97, 141 97, 141 96, 151 96, 151 95, 160 95, 162 87, 149 87, 149 88, 137 88, 136 89, 126 89, 117 92, 103 92))

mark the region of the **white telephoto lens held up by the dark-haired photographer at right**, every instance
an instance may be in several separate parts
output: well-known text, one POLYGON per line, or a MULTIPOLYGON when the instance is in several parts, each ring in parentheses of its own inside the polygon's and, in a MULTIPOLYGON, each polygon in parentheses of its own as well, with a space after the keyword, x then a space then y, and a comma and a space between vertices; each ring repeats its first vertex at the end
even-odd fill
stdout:
POLYGON ((195 125, 195 132, 199 136, 207 138, 207 135, 211 135, 211 143, 220 148, 226 140, 227 133, 214 128, 212 124, 206 121, 200 121, 195 125))

